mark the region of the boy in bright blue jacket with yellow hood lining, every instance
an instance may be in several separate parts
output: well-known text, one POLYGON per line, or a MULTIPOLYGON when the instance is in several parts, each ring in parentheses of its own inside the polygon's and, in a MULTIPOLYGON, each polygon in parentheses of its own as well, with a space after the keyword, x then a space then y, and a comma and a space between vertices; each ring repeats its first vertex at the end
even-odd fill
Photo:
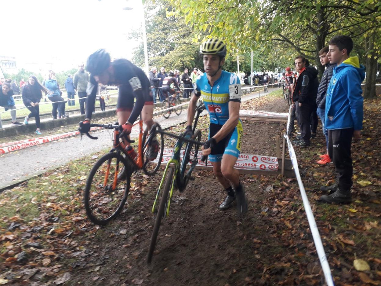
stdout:
POLYGON ((325 105, 325 128, 328 129, 328 153, 335 164, 336 184, 322 190, 332 191, 320 201, 335 203, 351 202, 352 186, 352 137, 360 139, 363 119, 361 82, 365 72, 359 58, 349 57, 352 39, 338 35, 329 42, 327 53, 331 64, 337 64, 328 85, 325 105))

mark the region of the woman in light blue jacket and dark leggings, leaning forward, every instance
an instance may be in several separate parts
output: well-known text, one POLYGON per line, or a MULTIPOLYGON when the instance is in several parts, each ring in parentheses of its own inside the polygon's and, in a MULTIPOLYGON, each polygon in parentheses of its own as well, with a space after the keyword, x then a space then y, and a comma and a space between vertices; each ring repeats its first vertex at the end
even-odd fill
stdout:
POLYGON ((49 78, 45 80, 45 87, 51 91, 51 94, 48 94, 48 99, 52 102, 53 108, 51 109, 51 115, 53 119, 57 119, 57 109, 58 109, 58 118, 69 117, 65 115, 65 104, 66 101, 61 96, 61 91, 59 90, 59 85, 56 80, 56 74, 54 71, 49 71, 49 78))

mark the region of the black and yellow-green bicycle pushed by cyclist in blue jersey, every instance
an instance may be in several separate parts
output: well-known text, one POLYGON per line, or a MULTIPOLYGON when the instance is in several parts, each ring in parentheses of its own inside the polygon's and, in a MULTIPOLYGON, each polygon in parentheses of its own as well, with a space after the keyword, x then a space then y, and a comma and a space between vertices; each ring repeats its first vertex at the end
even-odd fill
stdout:
POLYGON ((150 246, 148 250, 147 263, 150 263, 152 260, 152 255, 155 250, 155 244, 156 244, 157 235, 159 232, 162 218, 169 216, 173 190, 175 188, 178 188, 179 191, 184 191, 189 180, 193 179, 191 177, 191 174, 198 162, 198 152, 199 152, 200 145, 203 145, 203 143, 200 142, 201 131, 196 130, 196 125, 197 125, 197 121, 199 119, 200 113, 203 111, 203 109, 205 109, 205 107, 203 103, 200 102, 199 104, 197 104, 196 109, 197 109, 197 115, 196 115, 194 125, 192 128, 192 131, 193 131, 192 138, 190 138, 189 136, 184 137, 183 135, 176 136, 172 133, 164 132, 160 129, 157 129, 158 133, 169 135, 171 137, 178 138, 179 140, 177 141, 176 145, 173 148, 173 154, 171 159, 166 164, 163 178, 157 190, 154 205, 152 206, 152 214, 156 214, 156 218, 155 218, 154 229, 152 231, 151 242, 150 242, 150 246), (182 158, 182 161, 180 161, 181 147, 182 145, 184 145, 184 142, 187 142, 187 144, 185 147, 184 157, 182 158), (166 181, 165 181, 165 178, 166 178, 166 181), (165 181, 165 185, 164 185, 164 181, 165 181), (163 185, 164 185, 164 189, 162 193, 162 198, 158 206, 158 209, 156 209, 160 190, 162 189, 163 185), (169 199, 168 199, 168 193, 169 193, 169 199))

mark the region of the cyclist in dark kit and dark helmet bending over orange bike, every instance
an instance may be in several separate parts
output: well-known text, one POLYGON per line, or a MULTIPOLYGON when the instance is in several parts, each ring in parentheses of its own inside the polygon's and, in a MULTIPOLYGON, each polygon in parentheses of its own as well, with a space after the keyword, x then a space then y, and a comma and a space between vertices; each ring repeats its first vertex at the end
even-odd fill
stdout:
MULTIPOLYGON (((132 125, 140 114, 147 129, 151 128, 154 124, 152 120, 154 103, 150 92, 150 82, 139 67, 134 66, 127 59, 111 61, 109 53, 100 49, 89 56, 86 69, 90 72, 90 81, 86 88, 88 96, 86 119, 79 128, 80 132, 87 133, 90 130, 91 113, 94 110, 99 83, 118 86, 117 116, 119 124, 122 125, 123 134, 131 133, 132 125), (135 103, 134 98, 136 98, 135 103)), ((158 142, 154 138, 150 145, 151 160, 156 158, 157 152, 158 142)))

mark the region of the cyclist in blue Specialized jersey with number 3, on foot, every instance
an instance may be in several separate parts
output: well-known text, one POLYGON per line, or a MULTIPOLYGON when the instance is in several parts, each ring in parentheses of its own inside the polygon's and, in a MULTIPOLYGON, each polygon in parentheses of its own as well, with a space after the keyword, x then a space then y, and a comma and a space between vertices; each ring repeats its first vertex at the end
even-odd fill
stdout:
POLYGON ((210 117, 209 140, 206 148, 202 147, 202 152, 204 156, 209 156, 213 172, 227 192, 219 209, 229 209, 237 199, 238 212, 243 214, 247 211, 245 190, 240 183, 238 170, 234 169, 243 134, 239 119, 242 94, 240 80, 235 74, 221 69, 226 56, 226 46, 221 40, 205 40, 200 46, 200 54, 205 72, 197 77, 194 84, 185 133, 192 133, 196 103, 202 95, 210 117))

